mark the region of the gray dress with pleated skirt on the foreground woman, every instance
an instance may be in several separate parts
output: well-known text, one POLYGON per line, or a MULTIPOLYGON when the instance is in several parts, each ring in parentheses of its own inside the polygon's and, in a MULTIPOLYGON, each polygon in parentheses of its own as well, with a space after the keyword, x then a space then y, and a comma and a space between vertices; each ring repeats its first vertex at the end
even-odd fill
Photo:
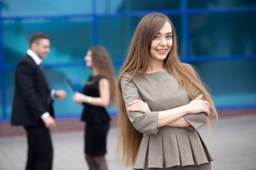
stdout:
POLYGON ((215 159, 197 132, 206 124, 206 113, 185 115, 184 119, 192 125, 188 128, 157 128, 159 111, 191 101, 185 88, 178 90, 177 79, 165 71, 144 74, 128 83, 129 78, 124 75, 121 79, 126 108, 130 102, 142 99, 151 110, 147 113, 126 110, 133 126, 143 133, 133 169, 198 166, 215 159))

